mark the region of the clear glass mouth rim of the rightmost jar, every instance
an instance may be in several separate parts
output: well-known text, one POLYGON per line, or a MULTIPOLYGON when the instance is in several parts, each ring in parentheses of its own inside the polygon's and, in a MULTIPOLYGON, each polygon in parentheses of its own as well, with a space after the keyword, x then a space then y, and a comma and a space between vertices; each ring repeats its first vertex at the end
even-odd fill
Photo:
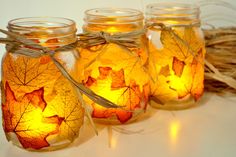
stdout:
POLYGON ((169 16, 169 17, 192 17, 198 18, 199 6, 190 3, 160 2, 147 5, 146 15, 169 16))

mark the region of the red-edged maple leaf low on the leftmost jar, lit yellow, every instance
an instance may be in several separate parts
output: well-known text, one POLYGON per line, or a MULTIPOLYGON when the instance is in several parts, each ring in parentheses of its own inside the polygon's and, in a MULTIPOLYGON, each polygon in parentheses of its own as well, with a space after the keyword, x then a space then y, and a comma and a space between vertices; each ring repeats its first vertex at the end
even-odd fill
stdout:
POLYGON ((5 84, 5 102, 2 105, 3 127, 7 136, 14 133, 24 148, 48 147, 47 138, 59 132, 64 118, 58 115, 44 116, 47 104, 40 88, 17 100, 8 82, 5 84))

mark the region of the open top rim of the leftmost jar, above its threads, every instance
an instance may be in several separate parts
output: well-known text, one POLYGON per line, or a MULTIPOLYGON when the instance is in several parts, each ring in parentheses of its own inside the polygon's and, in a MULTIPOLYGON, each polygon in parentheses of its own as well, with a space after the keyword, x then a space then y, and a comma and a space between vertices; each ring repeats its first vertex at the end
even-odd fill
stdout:
POLYGON ((62 17, 24 17, 13 19, 8 22, 8 28, 13 30, 38 29, 48 30, 70 28, 75 26, 73 20, 62 17))

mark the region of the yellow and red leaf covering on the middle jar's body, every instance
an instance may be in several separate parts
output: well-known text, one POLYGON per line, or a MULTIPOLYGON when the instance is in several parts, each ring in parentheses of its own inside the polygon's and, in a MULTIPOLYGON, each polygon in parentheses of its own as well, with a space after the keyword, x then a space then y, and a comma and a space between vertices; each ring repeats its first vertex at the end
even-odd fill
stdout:
POLYGON ((146 51, 142 48, 129 49, 114 43, 105 44, 99 49, 94 48, 95 51, 92 50, 93 47, 80 51, 78 67, 83 73, 79 74, 78 78, 96 94, 117 105, 126 107, 106 109, 94 104, 86 96, 84 99, 87 104, 92 105, 93 117, 113 118, 114 121, 118 119, 118 122, 125 123, 134 115, 133 112, 125 110, 130 110, 130 108, 143 110, 147 104, 146 93, 149 92, 147 90, 149 86, 146 84, 150 77, 144 68, 147 61, 146 51), (135 85, 138 86, 138 89, 135 88, 135 85), (135 97, 135 92, 137 99, 139 99, 139 105, 134 103, 130 106, 124 97, 128 97, 128 93, 131 93, 131 99, 131 97, 135 97), (136 105, 137 107, 134 107, 136 105))

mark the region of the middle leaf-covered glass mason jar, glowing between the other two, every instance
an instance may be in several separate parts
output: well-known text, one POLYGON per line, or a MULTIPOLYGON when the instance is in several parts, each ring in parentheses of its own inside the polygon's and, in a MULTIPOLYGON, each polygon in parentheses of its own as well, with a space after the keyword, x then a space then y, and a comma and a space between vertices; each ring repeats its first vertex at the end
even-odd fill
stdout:
MULTIPOLYGON (((110 35, 132 33, 143 29, 143 14, 133 9, 99 8, 85 12, 84 33, 105 32, 110 35)), ((124 36, 126 38, 126 36, 124 36)), ((90 99, 92 117, 96 122, 123 124, 137 119, 147 106, 149 77, 144 65, 147 62, 145 35, 136 36, 137 47, 115 43, 101 43, 80 47, 80 81, 96 94, 123 106, 106 109, 90 99)), ((133 39, 131 39, 133 41, 133 39)))

